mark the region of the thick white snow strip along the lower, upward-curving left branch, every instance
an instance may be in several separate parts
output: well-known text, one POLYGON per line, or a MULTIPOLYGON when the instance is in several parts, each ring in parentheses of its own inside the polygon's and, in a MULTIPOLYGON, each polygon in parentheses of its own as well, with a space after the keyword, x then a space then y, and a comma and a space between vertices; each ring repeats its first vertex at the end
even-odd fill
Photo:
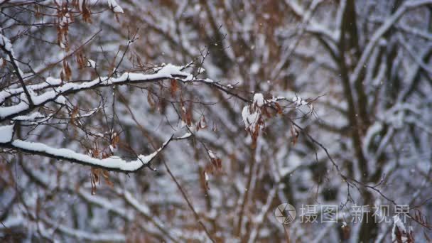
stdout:
POLYGON ((46 156, 50 158, 56 158, 59 160, 70 161, 73 163, 80 163, 85 166, 93 166, 97 168, 103 168, 107 171, 118 171, 124 173, 131 173, 139 171, 139 169, 147 166, 153 158, 158 156, 158 154, 166 148, 168 144, 173 140, 181 140, 188 139, 189 136, 181 136, 178 138, 174 138, 171 136, 165 143, 162 144, 160 148, 148 155, 139 155, 134 161, 125 161, 123 158, 119 156, 111 156, 108 158, 92 158, 83 153, 77 153, 68 148, 53 148, 47 146, 42 143, 34 143, 30 141, 22 141, 22 140, 11 140, 11 131, 13 130, 13 126, 1 126, 0 134, 3 138, 3 135, 6 135, 6 139, 0 140, 0 146, 6 148, 12 148, 17 151, 22 151, 25 153, 31 153, 33 155, 46 156), (9 136, 10 135, 10 136, 9 136))

